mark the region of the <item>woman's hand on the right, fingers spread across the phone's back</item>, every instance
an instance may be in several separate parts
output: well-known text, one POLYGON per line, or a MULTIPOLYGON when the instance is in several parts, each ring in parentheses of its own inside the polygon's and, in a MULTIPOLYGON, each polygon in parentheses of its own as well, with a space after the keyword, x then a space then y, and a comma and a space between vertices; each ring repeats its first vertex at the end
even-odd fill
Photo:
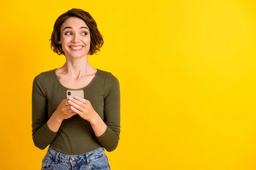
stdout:
POLYGON ((90 123, 97 115, 89 100, 75 96, 74 98, 70 97, 68 103, 71 105, 71 110, 73 112, 79 114, 81 118, 89 121, 90 123))

